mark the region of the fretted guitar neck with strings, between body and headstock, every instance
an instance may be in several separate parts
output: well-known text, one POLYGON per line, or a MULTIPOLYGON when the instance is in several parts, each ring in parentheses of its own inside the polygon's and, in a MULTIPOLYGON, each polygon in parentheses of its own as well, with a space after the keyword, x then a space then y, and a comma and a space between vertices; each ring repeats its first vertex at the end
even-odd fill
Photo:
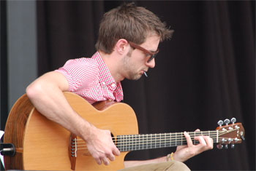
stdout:
MULTIPOLYGON (((218 142, 218 131, 198 131, 188 132, 193 144, 199 142, 195 140, 196 136, 207 135, 218 142)), ((187 145, 187 140, 183 132, 145 134, 145 135, 118 135, 116 138, 116 146, 119 151, 137 151, 153 148, 165 148, 173 146, 187 145)))

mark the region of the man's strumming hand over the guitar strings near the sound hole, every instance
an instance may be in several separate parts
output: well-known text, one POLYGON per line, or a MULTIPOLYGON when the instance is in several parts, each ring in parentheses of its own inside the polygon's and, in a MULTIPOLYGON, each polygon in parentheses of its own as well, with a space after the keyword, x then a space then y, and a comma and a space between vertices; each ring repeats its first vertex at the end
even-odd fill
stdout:
POLYGON ((97 164, 102 164, 103 162, 105 165, 108 165, 108 159, 114 161, 115 155, 120 155, 120 151, 113 143, 109 130, 99 130, 92 126, 91 134, 86 138, 86 145, 97 164))

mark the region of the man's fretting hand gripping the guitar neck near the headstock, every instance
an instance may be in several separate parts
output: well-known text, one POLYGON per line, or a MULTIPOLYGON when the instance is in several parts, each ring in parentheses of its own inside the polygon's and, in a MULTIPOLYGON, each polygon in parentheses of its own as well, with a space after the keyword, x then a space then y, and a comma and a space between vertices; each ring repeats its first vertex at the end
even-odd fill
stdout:
MULTIPOLYGON (((200 131, 200 130, 196 130, 200 131)), ((197 136, 195 140, 199 141, 199 144, 193 145, 192 140, 187 132, 184 132, 184 136, 187 139, 187 146, 178 146, 176 152, 173 154, 173 159, 185 162, 187 159, 202 153, 203 151, 210 150, 214 147, 212 138, 208 136, 197 136)))

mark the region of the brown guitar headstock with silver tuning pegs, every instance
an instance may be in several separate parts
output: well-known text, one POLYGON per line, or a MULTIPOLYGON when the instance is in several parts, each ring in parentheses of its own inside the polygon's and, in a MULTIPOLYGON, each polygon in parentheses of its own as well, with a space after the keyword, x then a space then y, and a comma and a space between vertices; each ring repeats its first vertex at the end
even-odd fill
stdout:
POLYGON ((231 119, 232 124, 229 119, 225 119, 224 122, 219 121, 219 127, 217 127, 217 132, 219 138, 217 140, 217 148, 221 149, 223 145, 225 148, 228 148, 228 145, 231 145, 231 148, 234 148, 235 143, 241 143, 244 139, 244 127, 241 123, 236 123, 236 119, 231 119), (222 124, 225 125, 222 125, 222 124))

